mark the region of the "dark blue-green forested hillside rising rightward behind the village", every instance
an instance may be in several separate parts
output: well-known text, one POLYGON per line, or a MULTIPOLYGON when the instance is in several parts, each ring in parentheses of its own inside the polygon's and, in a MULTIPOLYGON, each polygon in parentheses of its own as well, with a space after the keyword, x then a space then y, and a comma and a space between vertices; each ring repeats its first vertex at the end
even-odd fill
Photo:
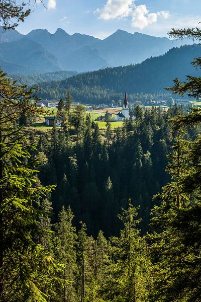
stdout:
POLYGON ((67 80, 40 83, 38 96, 60 99, 69 89, 75 101, 93 104, 118 101, 123 98, 125 89, 130 100, 136 99, 140 93, 162 94, 175 77, 184 80, 188 73, 198 74, 198 69, 194 69, 190 62, 199 55, 200 47, 197 45, 173 48, 141 64, 106 68, 81 73, 67 80))

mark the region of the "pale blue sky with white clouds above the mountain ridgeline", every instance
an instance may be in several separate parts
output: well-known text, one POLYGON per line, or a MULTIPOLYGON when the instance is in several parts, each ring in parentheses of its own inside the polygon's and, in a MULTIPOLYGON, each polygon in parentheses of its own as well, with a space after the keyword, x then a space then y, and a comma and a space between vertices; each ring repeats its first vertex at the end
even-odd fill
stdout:
POLYGON ((17 30, 57 28, 104 39, 118 29, 168 37, 171 28, 200 27, 201 0, 40 0, 17 30))

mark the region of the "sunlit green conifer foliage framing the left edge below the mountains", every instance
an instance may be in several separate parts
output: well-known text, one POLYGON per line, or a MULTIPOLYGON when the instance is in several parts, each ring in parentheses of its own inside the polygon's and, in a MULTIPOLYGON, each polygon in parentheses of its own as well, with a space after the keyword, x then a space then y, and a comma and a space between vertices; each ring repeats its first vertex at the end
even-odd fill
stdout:
MULTIPOLYGON (((11 83, 0 74, 0 300, 46 301, 54 296, 55 272, 60 269, 45 245, 39 210, 53 187, 36 185, 36 166, 31 153, 36 142, 18 126, 22 111, 34 113, 30 105, 33 90, 11 83)), ((44 222, 44 220, 43 220, 44 222)))

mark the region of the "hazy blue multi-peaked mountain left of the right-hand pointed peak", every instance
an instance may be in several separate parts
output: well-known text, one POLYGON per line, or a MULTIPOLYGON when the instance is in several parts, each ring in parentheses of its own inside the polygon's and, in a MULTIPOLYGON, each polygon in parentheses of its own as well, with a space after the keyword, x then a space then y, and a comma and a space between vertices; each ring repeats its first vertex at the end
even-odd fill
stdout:
POLYGON ((77 33, 69 35, 61 28, 54 34, 50 34, 46 29, 37 29, 27 36, 54 54, 62 69, 86 71, 108 66, 97 51, 94 52, 90 48, 92 42, 98 40, 94 37, 77 33))

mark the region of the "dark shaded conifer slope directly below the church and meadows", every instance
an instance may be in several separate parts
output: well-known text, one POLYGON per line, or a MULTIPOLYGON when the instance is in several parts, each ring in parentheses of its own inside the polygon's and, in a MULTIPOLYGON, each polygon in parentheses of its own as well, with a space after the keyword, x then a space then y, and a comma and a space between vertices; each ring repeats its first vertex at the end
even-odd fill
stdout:
MULTIPOLYGON (((137 123, 129 121, 115 131, 109 123, 102 135, 90 116, 85 121, 82 117, 76 145, 71 142, 70 130, 54 127, 49 135, 41 132, 39 178, 43 185, 57 184, 52 194, 54 213, 62 205, 70 205, 77 227, 82 220, 90 235, 102 230, 109 237, 118 234, 121 224, 117 215, 132 198, 140 205, 145 233, 154 205, 152 197, 169 180, 165 172, 171 145, 168 117, 178 111, 176 106, 167 113, 160 108, 143 112, 136 107, 137 123)), ((194 137, 195 132, 189 135, 194 137)))

